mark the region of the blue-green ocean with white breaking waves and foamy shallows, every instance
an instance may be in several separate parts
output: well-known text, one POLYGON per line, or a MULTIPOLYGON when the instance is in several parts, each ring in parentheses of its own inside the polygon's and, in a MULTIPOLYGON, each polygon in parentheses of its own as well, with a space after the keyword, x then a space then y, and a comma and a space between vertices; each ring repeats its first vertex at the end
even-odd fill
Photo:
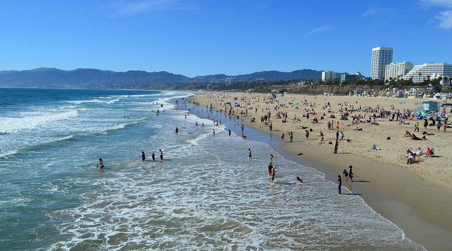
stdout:
POLYGON ((188 95, 0 88, 0 249, 424 250, 188 95))

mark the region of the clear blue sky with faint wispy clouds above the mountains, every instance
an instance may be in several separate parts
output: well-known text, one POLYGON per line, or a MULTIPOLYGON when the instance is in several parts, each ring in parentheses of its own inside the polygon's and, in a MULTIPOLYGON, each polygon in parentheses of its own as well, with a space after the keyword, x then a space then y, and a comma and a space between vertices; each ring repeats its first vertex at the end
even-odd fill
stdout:
POLYGON ((0 70, 369 76, 385 45, 395 62, 452 63, 452 0, 0 0, 0 70))

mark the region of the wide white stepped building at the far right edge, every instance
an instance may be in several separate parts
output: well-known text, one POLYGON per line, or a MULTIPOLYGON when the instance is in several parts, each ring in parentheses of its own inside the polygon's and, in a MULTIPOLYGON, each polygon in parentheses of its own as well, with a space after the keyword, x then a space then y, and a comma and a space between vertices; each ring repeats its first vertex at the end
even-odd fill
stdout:
POLYGON ((430 78, 436 79, 441 77, 439 82, 443 86, 449 86, 450 81, 447 81, 449 77, 452 77, 452 64, 447 63, 425 63, 422 65, 416 65, 411 69, 403 79, 412 79, 413 83, 418 84, 424 80, 430 78), (447 80, 445 80, 447 78, 447 80))

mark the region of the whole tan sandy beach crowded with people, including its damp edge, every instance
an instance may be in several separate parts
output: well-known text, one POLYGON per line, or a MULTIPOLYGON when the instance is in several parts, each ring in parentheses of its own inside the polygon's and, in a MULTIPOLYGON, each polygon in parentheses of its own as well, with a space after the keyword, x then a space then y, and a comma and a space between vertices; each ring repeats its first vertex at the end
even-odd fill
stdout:
POLYGON ((452 236, 452 185, 449 182, 452 167, 448 165, 452 153, 448 148, 452 143, 452 129, 446 128, 446 132, 443 127, 439 132, 435 126, 424 129, 422 120, 410 120, 411 117, 402 119, 403 123, 390 121, 392 116, 369 118, 374 113, 379 115, 372 110, 377 107, 401 113, 414 109, 421 105, 419 99, 286 94, 271 101, 269 96, 206 92, 192 97, 191 102, 204 107, 212 105, 218 112, 224 112, 225 103, 231 103, 235 115, 243 119, 240 123, 246 128, 269 133, 276 140, 284 133, 286 137, 280 147, 291 153, 289 159, 323 172, 328 180, 335 181, 338 174, 353 165, 355 182, 349 180, 343 183, 344 186, 359 194, 376 212, 397 224, 407 237, 428 250, 452 248, 452 240, 448 238, 452 236), (348 120, 340 120, 341 109, 344 112, 346 108, 348 120), (272 131, 268 124, 261 122, 261 116, 268 112, 271 112, 272 131), (283 122, 284 116, 276 118, 278 113, 287 113, 287 121, 283 122), (361 122, 353 124, 353 116, 360 116, 361 122), (318 118, 318 123, 313 122, 314 117, 318 118), (255 122, 251 122, 252 118, 255 122), (331 120, 333 129, 328 130, 327 123, 331 120), (421 138, 423 131, 434 135, 425 135, 426 140, 403 137, 405 131, 413 134, 417 121, 420 131, 414 133, 417 137, 421 138), (344 140, 340 133, 338 151, 333 154, 337 122, 344 140), (362 130, 356 131, 357 127, 362 130), (309 132, 308 139, 305 130, 309 132), (289 142, 289 132, 293 132, 293 142, 289 142), (320 132, 323 141, 318 136, 320 132), (373 145, 377 151, 372 150, 373 145), (434 148, 433 157, 419 156, 414 164, 406 164, 407 149, 417 152, 420 148, 425 153, 427 147, 434 148))

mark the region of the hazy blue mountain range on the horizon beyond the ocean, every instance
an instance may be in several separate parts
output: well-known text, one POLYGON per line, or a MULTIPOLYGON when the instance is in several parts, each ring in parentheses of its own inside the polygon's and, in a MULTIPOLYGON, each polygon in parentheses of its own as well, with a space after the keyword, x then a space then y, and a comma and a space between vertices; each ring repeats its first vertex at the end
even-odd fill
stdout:
POLYGON ((292 72, 261 71, 237 76, 215 74, 190 78, 166 71, 115 72, 86 68, 67 71, 38 68, 0 71, 0 87, 146 89, 160 83, 224 83, 224 79, 229 77, 234 77, 236 81, 251 81, 258 78, 266 81, 320 79, 321 71, 308 69, 292 72))

